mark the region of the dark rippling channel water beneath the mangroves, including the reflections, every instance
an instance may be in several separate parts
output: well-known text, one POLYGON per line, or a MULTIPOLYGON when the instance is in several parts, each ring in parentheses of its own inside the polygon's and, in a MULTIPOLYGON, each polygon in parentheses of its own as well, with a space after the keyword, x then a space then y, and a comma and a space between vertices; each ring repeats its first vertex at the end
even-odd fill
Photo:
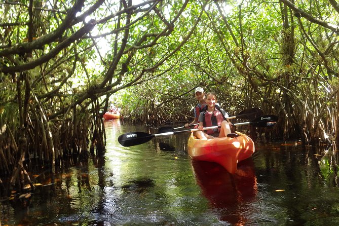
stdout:
POLYGON ((154 129, 106 122, 104 158, 36 175, 26 200, 0 203, 0 225, 339 225, 337 154, 298 143, 256 143, 230 175, 191 161, 189 134, 123 147, 117 138, 154 129), (24 204, 27 207, 24 207, 24 204))

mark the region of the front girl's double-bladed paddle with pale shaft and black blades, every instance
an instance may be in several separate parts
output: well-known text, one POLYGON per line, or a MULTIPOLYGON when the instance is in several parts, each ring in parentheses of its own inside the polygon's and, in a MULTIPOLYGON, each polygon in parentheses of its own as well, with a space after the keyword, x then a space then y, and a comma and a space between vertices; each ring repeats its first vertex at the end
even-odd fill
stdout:
MULTIPOLYGON (((252 125, 255 127, 269 127, 269 126, 275 125, 277 121, 278 121, 277 116, 266 115, 266 116, 260 116, 251 122, 236 123, 234 125, 236 126, 252 125)), ((204 130, 215 129, 217 127, 218 126, 205 127, 204 130)), ((120 135, 118 137, 118 141, 121 145, 128 147, 128 146, 134 146, 134 145, 138 145, 141 143, 145 143, 151 140, 153 137, 157 137, 157 136, 167 136, 167 135, 173 135, 173 134, 183 133, 183 132, 195 132, 199 130, 199 129, 190 129, 190 130, 174 131, 174 128, 172 129, 173 131, 169 131, 166 133, 158 133, 158 134, 149 134, 145 132, 129 132, 129 133, 120 135)))

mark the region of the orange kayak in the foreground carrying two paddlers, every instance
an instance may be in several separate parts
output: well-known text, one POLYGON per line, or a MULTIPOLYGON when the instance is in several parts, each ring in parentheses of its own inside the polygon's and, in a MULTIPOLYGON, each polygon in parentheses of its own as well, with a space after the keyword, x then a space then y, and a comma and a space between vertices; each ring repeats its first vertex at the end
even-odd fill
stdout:
POLYGON ((254 142, 243 133, 238 137, 221 137, 208 140, 196 139, 191 133, 188 142, 189 155, 199 161, 216 162, 234 174, 238 162, 254 153, 254 142))

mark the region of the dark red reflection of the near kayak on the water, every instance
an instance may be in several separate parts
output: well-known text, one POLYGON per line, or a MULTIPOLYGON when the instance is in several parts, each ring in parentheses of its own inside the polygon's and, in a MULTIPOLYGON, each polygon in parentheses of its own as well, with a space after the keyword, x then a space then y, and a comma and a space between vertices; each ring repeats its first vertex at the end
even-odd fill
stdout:
POLYGON ((219 219, 232 225, 244 225, 253 212, 251 202, 257 194, 257 182, 251 159, 239 163, 235 174, 219 164, 192 160, 197 183, 219 219))

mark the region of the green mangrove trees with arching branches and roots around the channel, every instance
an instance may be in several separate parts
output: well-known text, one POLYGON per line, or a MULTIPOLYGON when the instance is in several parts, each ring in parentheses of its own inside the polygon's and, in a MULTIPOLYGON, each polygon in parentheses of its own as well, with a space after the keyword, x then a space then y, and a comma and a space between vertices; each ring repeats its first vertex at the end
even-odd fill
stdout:
POLYGON ((278 116, 265 131, 274 140, 339 139, 335 0, 1 6, 2 200, 33 191, 35 173, 102 156, 110 104, 125 124, 184 124, 197 87, 215 92, 230 116, 252 108, 278 116))

